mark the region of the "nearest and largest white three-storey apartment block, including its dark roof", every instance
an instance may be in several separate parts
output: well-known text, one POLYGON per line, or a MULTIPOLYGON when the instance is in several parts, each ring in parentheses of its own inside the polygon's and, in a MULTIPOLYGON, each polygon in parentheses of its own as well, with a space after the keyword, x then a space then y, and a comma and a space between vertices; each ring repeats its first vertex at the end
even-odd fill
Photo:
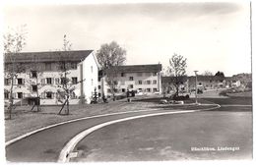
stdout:
MULTIPOLYGON (((90 103, 97 90, 98 63, 93 50, 22 52, 14 55, 5 54, 5 66, 14 62, 25 68, 14 80, 14 103, 30 103, 37 91, 41 105, 61 104, 60 89, 63 85, 63 67, 69 67, 67 78, 70 88, 74 89, 70 104, 90 103), (60 63, 61 62, 61 63, 60 63)), ((4 97, 10 97, 11 80, 5 72, 4 97)))

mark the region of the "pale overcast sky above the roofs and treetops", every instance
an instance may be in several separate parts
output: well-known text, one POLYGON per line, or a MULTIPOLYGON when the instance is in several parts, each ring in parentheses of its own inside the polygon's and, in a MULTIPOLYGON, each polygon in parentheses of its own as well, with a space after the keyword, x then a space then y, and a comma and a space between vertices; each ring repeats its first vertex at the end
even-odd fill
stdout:
POLYGON ((161 63, 180 54, 187 74, 251 71, 249 3, 6 6, 4 30, 27 24, 24 51, 99 49, 115 40, 127 50, 126 64, 161 63))

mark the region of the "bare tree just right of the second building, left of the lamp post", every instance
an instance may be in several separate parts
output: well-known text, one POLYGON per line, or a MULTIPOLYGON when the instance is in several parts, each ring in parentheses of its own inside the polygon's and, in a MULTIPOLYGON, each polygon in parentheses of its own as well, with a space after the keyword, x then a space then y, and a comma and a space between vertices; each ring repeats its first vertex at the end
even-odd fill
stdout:
POLYGON ((179 85, 184 82, 187 68, 186 62, 186 58, 176 53, 169 59, 169 72, 173 76, 170 80, 176 88, 176 96, 178 96, 179 85))

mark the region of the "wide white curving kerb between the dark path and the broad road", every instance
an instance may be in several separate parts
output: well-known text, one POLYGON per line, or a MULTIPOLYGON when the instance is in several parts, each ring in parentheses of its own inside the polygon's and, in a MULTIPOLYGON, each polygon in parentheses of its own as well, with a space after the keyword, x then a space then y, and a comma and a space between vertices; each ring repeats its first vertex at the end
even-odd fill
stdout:
POLYGON ((70 158, 67 155, 69 155, 70 152, 73 152, 73 149, 75 148, 75 146, 78 144, 78 142, 80 140, 86 138, 89 134, 95 132, 96 130, 106 127, 108 125, 119 123, 119 122, 124 122, 124 121, 129 121, 129 120, 134 120, 134 119, 139 119, 139 118, 145 118, 145 117, 153 117, 153 116, 169 115, 169 114, 192 113, 192 112, 197 112, 197 111, 202 111, 202 110, 212 110, 212 109, 216 109, 216 108, 220 108, 220 107, 221 106, 219 104, 217 104, 216 107, 212 107, 212 108, 208 108, 208 109, 201 109, 201 110, 169 111, 169 112, 145 114, 145 115, 132 116, 132 117, 117 119, 117 120, 108 121, 105 123, 98 124, 90 129, 83 131, 82 133, 75 136, 73 139, 70 139, 66 143, 66 145, 63 147, 63 149, 61 150, 61 152, 59 154, 58 162, 69 162, 70 158))

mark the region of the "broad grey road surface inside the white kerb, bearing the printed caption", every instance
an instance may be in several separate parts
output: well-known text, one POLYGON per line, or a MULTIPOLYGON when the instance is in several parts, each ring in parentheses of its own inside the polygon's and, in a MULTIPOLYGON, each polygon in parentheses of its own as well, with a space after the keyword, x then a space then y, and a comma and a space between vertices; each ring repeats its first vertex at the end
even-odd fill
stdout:
POLYGON ((72 161, 251 159, 252 113, 203 111, 104 127, 81 140, 72 161))

